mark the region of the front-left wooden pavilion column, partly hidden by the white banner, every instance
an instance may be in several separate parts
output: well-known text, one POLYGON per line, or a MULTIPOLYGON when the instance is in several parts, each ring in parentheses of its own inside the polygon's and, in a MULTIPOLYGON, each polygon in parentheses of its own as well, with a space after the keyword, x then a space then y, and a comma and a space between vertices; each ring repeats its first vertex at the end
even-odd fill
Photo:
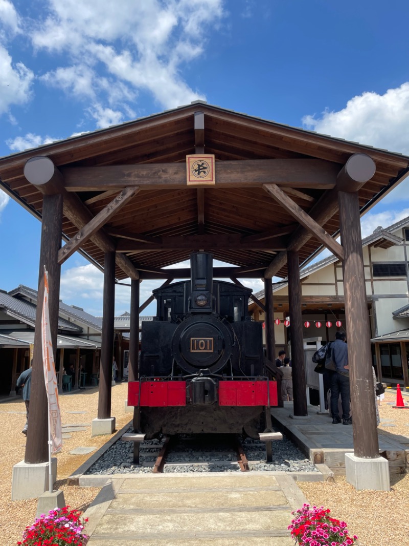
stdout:
POLYGON ((56 354, 58 303, 61 266, 57 263, 61 248, 63 197, 61 194, 44 195, 41 225, 40 264, 35 317, 33 372, 31 377, 30 411, 25 462, 37 464, 48 460, 48 409, 44 384, 43 354, 41 349, 41 314, 44 299, 44 266, 48 271, 50 330, 53 353, 56 354))

